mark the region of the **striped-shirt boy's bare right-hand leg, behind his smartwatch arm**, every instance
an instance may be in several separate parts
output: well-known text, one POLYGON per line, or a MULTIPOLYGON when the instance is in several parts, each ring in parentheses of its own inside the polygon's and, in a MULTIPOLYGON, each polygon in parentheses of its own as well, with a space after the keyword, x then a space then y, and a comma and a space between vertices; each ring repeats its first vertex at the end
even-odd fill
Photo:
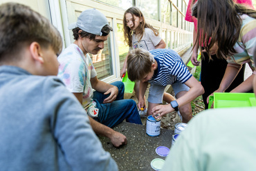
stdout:
MULTIPOLYGON (((186 91, 181 91, 178 94, 176 94, 177 99, 179 99, 179 97, 182 97, 185 93, 186 93, 186 91)), ((191 108, 190 103, 187 103, 187 104, 179 107, 179 111, 183 118, 183 123, 188 123, 188 121, 190 121, 190 119, 192 119, 192 108, 191 108)))

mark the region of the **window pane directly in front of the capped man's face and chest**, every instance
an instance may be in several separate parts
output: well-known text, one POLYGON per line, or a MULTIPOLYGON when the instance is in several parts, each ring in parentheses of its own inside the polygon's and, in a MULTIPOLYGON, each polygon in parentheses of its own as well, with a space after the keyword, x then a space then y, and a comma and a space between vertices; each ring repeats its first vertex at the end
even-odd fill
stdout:
POLYGON ((98 79, 104 79, 113 74, 110 37, 104 41, 104 49, 98 54, 89 54, 93 60, 93 66, 97 71, 98 79))

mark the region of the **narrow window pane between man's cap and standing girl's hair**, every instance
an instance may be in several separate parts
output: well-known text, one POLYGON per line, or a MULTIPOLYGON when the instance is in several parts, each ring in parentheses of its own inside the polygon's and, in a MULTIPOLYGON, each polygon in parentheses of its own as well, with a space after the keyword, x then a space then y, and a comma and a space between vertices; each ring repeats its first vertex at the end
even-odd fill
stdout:
POLYGON ((120 60, 120 69, 122 69, 122 66, 124 65, 125 62, 125 57, 129 51, 129 46, 125 43, 125 37, 124 37, 124 32, 122 31, 122 24, 118 23, 117 28, 118 28, 118 52, 119 52, 119 60, 120 60))

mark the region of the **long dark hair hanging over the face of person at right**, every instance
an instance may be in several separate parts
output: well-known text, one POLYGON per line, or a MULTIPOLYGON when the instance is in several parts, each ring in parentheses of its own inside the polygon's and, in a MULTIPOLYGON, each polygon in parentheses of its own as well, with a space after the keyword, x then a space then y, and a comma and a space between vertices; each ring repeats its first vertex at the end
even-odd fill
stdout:
POLYGON ((203 44, 208 54, 214 43, 217 43, 219 59, 237 53, 234 46, 241 30, 241 14, 256 19, 255 10, 232 0, 198 0, 192 8, 192 16, 198 21, 196 43, 203 44))

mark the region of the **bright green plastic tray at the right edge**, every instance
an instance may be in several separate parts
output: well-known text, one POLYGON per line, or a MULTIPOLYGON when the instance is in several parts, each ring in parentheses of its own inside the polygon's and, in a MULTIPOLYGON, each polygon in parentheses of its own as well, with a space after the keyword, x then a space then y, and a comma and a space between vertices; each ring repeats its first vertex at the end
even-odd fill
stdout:
POLYGON ((208 108, 241 108, 256 106, 254 93, 242 92, 214 92, 209 98, 208 108), (213 103, 214 102, 214 103, 213 103))

